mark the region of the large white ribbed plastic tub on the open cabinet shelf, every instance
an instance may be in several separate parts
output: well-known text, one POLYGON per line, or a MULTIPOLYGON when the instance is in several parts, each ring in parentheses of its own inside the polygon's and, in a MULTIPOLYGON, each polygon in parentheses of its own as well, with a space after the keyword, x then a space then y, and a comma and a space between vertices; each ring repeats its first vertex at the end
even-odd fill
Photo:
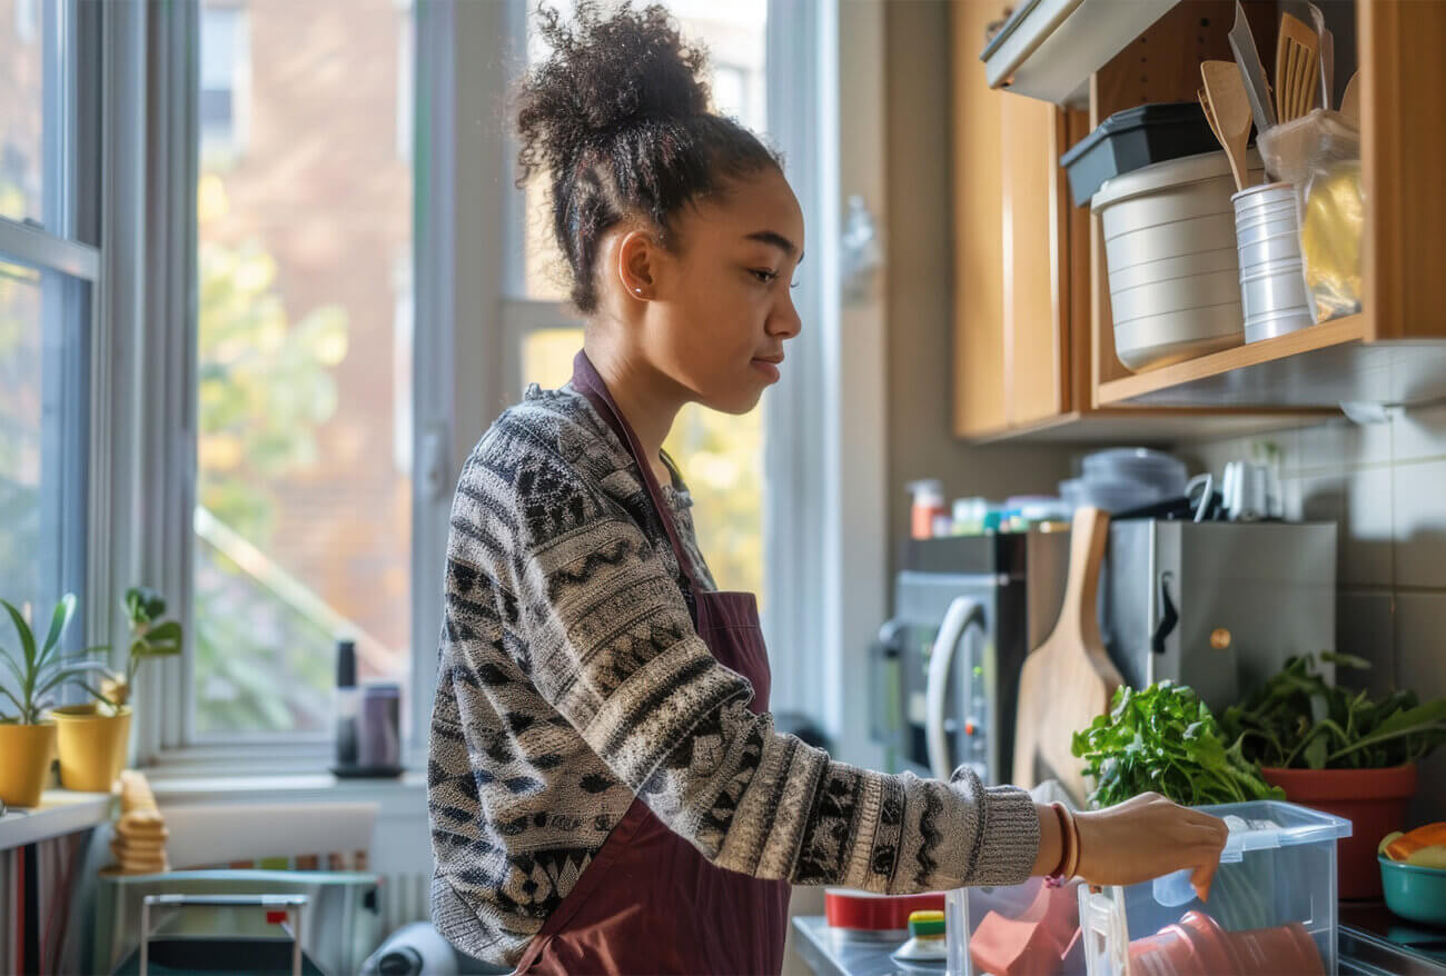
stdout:
MULTIPOLYGON (((1251 153, 1252 174, 1261 172, 1251 153)), ((1229 160, 1154 163, 1099 188, 1115 354, 1139 372, 1245 341, 1229 160)))

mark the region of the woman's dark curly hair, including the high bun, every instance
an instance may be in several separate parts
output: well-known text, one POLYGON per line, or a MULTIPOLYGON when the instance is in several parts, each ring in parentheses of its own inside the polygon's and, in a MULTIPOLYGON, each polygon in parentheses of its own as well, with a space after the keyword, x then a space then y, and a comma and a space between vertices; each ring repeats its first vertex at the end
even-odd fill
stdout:
POLYGON ((548 175, 552 233, 573 304, 587 314, 597 308, 597 244, 625 214, 649 218, 667 247, 684 204, 782 165, 748 129, 709 111, 707 55, 684 43, 662 6, 604 14, 580 0, 570 22, 551 7, 538 16, 552 53, 516 94, 518 187, 548 175))

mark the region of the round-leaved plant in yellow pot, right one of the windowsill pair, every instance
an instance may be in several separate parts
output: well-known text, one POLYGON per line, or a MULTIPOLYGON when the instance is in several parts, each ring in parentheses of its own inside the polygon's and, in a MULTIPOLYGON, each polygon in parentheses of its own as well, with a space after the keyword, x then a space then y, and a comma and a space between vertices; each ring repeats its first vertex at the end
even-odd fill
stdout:
POLYGON ((95 701, 56 709, 61 785, 67 789, 108 791, 126 765, 130 746, 130 694, 146 658, 181 654, 181 625, 162 620, 166 602, 149 587, 132 587, 123 602, 130 622, 130 648, 123 672, 107 672, 95 701))

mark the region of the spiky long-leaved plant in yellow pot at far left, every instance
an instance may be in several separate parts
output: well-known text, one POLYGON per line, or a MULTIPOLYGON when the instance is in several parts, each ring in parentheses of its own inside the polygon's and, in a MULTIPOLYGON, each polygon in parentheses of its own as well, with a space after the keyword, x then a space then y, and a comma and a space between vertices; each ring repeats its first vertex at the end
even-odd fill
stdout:
POLYGON ((55 750, 56 726, 48 720, 46 709, 56 694, 71 682, 84 684, 88 672, 104 671, 100 661, 85 661, 107 648, 87 648, 64 652, 61 636, 75 616, 75 594, 67 593, 51 613, 51 629, 45 643, 36 645, 29 622, 12 603, 0 600, 20 638, 19 654, 9 648, 0 655, 14 678, 13 690, 0 685, 16 714, 0 719, 0 800, 16 807, 40 802, 45 774, 55 750))

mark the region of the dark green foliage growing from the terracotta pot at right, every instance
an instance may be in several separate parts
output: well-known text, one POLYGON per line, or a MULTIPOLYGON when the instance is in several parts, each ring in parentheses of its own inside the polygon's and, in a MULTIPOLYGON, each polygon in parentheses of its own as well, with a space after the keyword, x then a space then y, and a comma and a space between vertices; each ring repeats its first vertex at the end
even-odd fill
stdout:
MULTIPOLYGON (((1345 654, 1320 656, 1338 668, 1371 667, 1345 654)), ((1446 698, 1420 704, 1414 691, 1395 691, 1372 701, 1366 691, 1326 684, 1306 655, 1226 709, 1222 724, 1233 749, 1262 766, 1382 769, 1446 743, 1446 698)))

